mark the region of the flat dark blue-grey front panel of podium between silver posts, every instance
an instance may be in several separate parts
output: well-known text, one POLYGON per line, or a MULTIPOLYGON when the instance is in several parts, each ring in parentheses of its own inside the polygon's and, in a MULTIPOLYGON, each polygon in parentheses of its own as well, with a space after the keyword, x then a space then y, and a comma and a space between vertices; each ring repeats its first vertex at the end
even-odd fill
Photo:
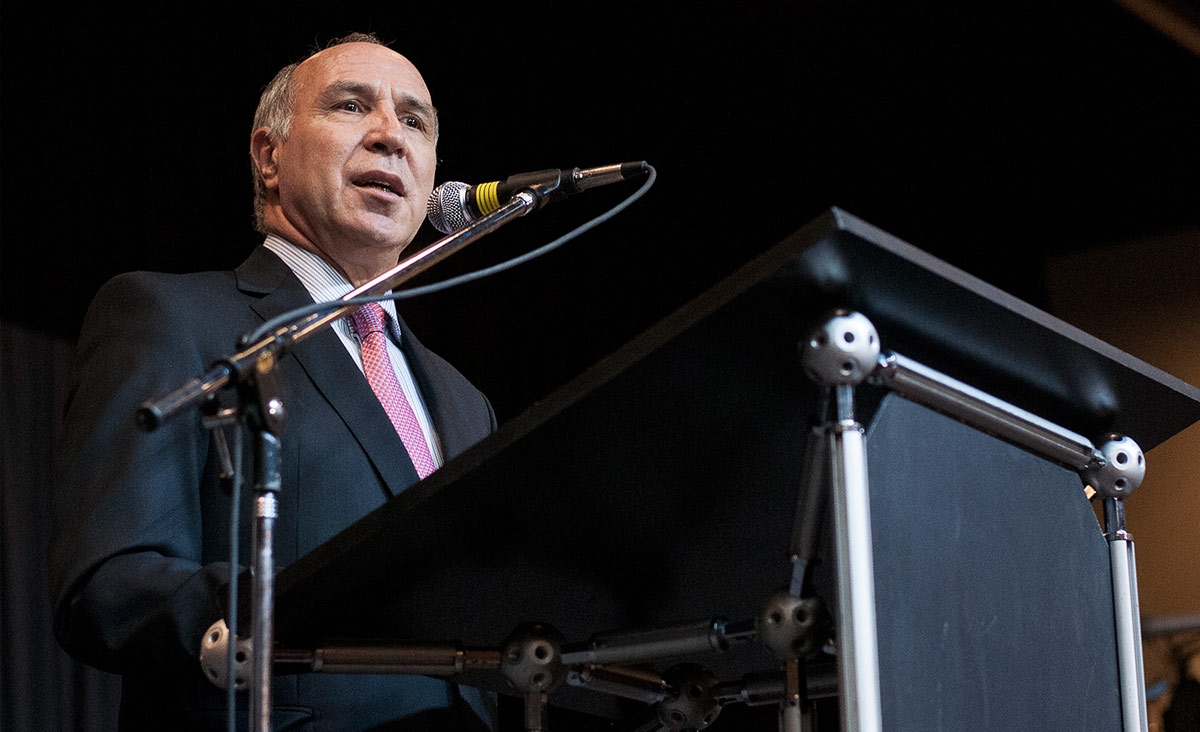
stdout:
POLYGON ((898 397, 868 434, 883 728, 1120 730, 1079 476, 898 397))

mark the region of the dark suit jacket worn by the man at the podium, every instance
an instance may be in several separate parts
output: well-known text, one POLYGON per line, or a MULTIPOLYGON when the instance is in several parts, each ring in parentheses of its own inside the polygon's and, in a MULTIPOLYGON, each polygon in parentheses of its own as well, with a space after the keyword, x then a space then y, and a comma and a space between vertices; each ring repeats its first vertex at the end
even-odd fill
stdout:
MULTIPOLYGON (((199 408, 151 432, 136 426, 137 408, 208 373, 266 319, 311 302, 293 272, 259 246, 232 272, 118 276, 89 310, 58 451, 52 592, 62 646, 122 674, 122 730, 224 724, 224 691, 203 679, 197 660, 202 635, 227 614, 232 514, 214 434, 199 408)), ((402 332, 443 451, 454 457, 494 431, 491 404, 403 324, 402 332)), ((274 548, 282 568, 418 478, 332 330, 298 343, 277 373, 286 424, 274 548)), ((220 394, 233 397, 232 389, 220 394)), ((251 560, 253 522, 253 452, 248 431, 244 437, 241 565, 251 560)), ((280 676, 272 722, 366 730, 454 706, 457 694, 425 677, 280 676)), ((430 728, 448 725, 438 719, 430 728)))

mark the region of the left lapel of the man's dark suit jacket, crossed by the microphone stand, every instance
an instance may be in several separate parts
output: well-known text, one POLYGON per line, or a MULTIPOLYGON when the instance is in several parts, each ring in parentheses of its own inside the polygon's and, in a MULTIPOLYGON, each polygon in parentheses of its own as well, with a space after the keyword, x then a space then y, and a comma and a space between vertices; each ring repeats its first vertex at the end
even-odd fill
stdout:
MULTIPOLYGON (((312 304, 300 280, 264 247, 258 247, 238 269, 238 280, 239 287, 246 292, 265 293, 251 306, 264 320, 312 304)), ((308 336, 284 358, 296 360, 317 391, 342 418, 390 496, 418 481, 416 469, 400 436, 332 329, 325 328, 308 336)), ((287 400, 287 394, 283 396, 287 400)))

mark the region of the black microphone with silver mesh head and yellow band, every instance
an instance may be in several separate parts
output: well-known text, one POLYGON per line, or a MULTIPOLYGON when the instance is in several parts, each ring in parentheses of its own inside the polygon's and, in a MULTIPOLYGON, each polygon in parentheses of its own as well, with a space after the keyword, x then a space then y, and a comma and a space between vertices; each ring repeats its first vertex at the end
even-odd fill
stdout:
POLYGON ((478 186, 451 180, 433 188, 426 209, 433 228, 443 234, 452 234, 472 221, 499 209, 521 191, 532 192, 540 206, 588 188, 606 186, 648 172, 646 161, 637 161, 599 168, 564 170, 552 168, 535 173, 518 173, 504 180, 493 180, 478 186))

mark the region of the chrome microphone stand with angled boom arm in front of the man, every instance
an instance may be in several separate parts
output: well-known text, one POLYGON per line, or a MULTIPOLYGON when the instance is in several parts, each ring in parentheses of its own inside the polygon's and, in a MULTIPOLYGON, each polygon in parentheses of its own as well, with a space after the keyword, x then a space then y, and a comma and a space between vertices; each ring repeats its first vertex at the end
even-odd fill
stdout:
MULTIPOLYGON (((509 221, 534 210, 542 203, 547 193, 553 192, 554 187, 542 190, 532 187, 516 192, 505 205, 496 211, 476 218, 462 230, 401 260, 395 268, 347 293, 342 300, 349 301, 360 296, 382 295, 395 289, 468 244, 478 241, 509 221)), ((274 527, 276 493, 281 487, 278 458, 282 452, 275 433, 282 428, 284 414, 275 366, 278 359, 296 343, 358 307, 358 302, 348 302, 325 314, 308 316, 298 323, 276 329, 250 346, 246 346, 247 338, 244 337, 242 350, 218 361, 206 374, 184 384, 166 397, 143 404, 137 413, 138 424, 143 430, 155 430, 182 409, 208 400, 221 389, 234 385, 238 388, 240 416, 247 419, 250 428, 256 434, 254 461, 258 479, 254 485, 256 514, 252 536, 254 544, 254 560, 251 572, 253 677, 250 689, 251 727, 256 732, 270 731, 271 713, 271 662, 275 638, 274 527)), ((232 577, 230 581, 236 582, 238 580, 232 577)), ((238 608, 232 608, 230 612, 236 613, 238 608)), ((227 653, 234 653, 236 646, 236 638, 229 638, 227 653)), ((229 678, 227 683, 232 685, 235 679, 229 678)))

